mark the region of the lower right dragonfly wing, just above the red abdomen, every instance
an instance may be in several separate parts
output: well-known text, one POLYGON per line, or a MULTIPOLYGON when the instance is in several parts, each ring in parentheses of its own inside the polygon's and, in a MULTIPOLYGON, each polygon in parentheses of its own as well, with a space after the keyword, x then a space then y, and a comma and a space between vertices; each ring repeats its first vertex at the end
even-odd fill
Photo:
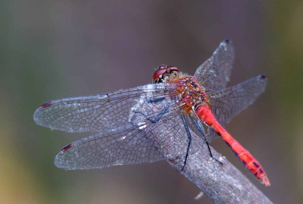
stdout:
MULTIPOLYGON (((253 103, 265 90, 266 82, 264 75, 258 75, 227 89, 207 92, 211 111, 220 124, 225 126, 235 115, 253 103)), ((208 142, 217 136, 212 128, 208 128, 206 135, 208 142)))

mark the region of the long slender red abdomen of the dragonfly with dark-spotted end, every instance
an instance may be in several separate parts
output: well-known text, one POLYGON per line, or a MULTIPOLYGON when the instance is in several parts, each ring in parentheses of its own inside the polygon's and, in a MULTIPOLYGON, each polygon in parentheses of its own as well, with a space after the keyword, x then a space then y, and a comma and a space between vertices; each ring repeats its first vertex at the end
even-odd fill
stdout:
POLYGON ((235 140, 222 125, 218 122, 211 110, 206 105, 197 108, 198 117, 206 124, 210 125, 227 143, 244 166, 265 186, 270 186, 268 177, 261 164, 249 153, 237 140, 235 140))

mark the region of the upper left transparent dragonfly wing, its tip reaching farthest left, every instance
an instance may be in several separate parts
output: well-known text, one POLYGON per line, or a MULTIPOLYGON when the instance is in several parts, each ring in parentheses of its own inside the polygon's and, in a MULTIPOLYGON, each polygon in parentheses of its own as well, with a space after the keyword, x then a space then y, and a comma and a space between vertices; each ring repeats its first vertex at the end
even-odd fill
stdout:
MULTIPOLYGON (((130 123, 133 106, 156 101, 176 92, 175 85, 158 83, 100 95, 58 99, 34 113, 38 125, 67 132, 103 132, 130 123)), ((137 111, 141 107, 137 106, 137 111)))

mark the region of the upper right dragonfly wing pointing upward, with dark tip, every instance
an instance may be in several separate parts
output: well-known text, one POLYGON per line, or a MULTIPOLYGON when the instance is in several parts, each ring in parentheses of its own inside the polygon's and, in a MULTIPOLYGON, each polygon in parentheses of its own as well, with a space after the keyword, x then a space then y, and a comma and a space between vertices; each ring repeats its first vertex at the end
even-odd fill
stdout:
POLYGON ((224 89, 229 81, 234 55, 232 43, 229 40, 221 42, 213 55, 198 67, 195 79, 206 91, 224 89))

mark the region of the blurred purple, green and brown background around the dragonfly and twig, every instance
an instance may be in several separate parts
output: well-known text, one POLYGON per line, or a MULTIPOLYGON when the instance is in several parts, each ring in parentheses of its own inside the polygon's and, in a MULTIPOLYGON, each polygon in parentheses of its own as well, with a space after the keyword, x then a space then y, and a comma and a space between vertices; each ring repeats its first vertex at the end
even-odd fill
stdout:
POLYGON ((161 64, 193 74, 230 39, 229 85, 258 74, 266 91, 227 130, 262 164, 262 186, 221 139, 211 143, 274 203, 303 189, 302 1, 1 1, 0 203, 213 203, 166 161, 64 170, 57 152, 89 132, 33 121, 43 102, 151 82, 161 64))

